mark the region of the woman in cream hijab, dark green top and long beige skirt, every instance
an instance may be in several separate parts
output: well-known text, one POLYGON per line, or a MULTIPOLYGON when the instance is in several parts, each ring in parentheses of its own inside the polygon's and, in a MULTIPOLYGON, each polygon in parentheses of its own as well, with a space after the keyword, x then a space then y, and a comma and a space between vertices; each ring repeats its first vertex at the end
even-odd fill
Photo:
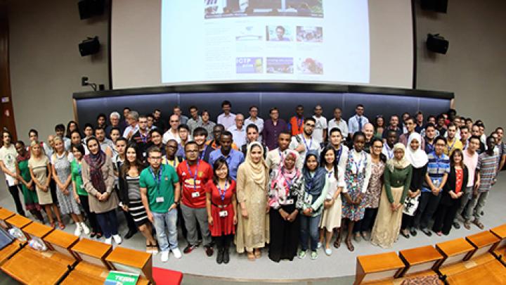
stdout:
POLYGON ((405 156, 405 147, 394 145, 394 157, 387 161, 380 208, 372 227, 371 243, 390 248, 401 230, 404 199, 408 195, 413 169, 405 156))

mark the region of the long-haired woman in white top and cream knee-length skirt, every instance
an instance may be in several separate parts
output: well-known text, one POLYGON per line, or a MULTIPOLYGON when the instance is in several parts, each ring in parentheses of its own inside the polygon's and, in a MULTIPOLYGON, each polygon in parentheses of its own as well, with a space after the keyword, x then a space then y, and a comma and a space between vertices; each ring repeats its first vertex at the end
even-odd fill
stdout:
POLYGON ((320 156, 320 165, 322 165, 327 175, 325 183, 327 184, 327 195, 323 201, 323 215, 320 220, 320 243, 325 239, 325 254, 331 255, 330 240, 335 229, 339 231, 341 227, 342 201, 341 193, 346 187, 344 183, 344 170, 337 165, 335 151, 332 145, 323 148, 320 156))

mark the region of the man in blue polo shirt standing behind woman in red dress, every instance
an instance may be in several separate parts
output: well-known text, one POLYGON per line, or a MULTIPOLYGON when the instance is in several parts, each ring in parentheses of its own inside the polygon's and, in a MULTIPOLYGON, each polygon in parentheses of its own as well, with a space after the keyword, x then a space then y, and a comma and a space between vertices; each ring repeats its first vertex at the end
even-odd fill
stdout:
POLYGON ((245 156, 240 151, 232 148, 232 134, 231 132, 223 132, 220 136, 220 148, 209 154, 209 164, 214 165, 218 158, 225 158, 230 170, 232 179, 236 179, 238 175, 239 165, 245 160, 245 156))

